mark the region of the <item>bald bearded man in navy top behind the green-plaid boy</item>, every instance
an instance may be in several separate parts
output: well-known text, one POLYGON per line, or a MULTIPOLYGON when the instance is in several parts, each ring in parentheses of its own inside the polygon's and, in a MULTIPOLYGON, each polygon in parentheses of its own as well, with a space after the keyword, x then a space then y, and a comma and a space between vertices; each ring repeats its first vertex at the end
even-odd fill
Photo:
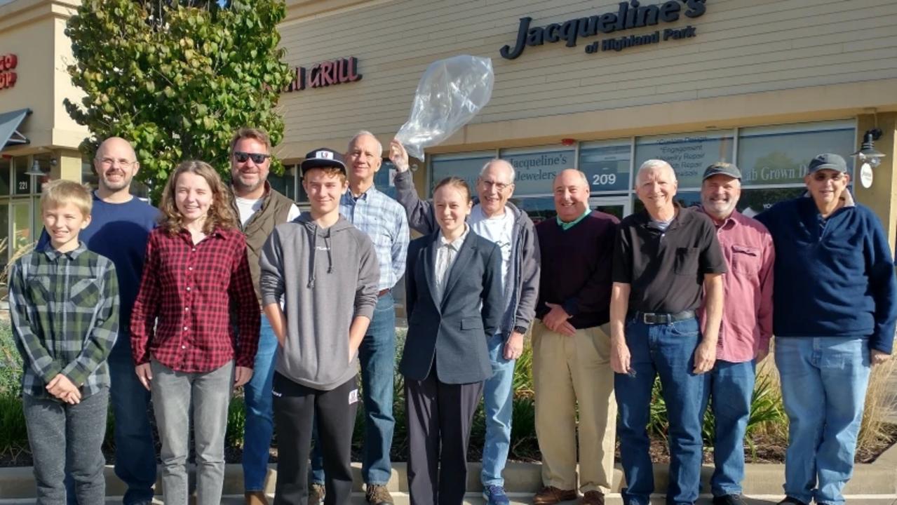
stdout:
MULTIPOLYGON (((131 309, 144 270, 146 240, 155 227, 159 210, 131 195, 131 182, 140 163, 125 139, 109 137, 93 159, 99 184, 93 192, 91 223, 80 235, 87 248, 115 264, 120 303, 118 339, 109 354, 111 381, 109 403, 115 416, 115 473, 127 486, 126 505, 152 502, 156 483, 156 453, 147 410, 150 392, 137 379, 131 360, 131 309)), ((37 248, 49 241, 47 231, 37 248)), ((67 502, 76 503, 74 481, 65 476, 67 502)), ((84 505, 84 504, 83 504, 84 505)))

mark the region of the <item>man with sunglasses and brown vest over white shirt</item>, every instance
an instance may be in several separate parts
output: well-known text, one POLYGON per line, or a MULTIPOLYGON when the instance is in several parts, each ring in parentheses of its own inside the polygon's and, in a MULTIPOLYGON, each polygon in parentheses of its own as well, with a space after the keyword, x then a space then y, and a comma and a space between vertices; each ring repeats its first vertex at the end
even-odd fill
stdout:
MULTIPOLYGON (((258 280, 261 274, 258 257, 274 226, 291 222, 300 211, 292 200, 278 193, 268 183, 271 167, 271 139, 256 128, 240 128, 231 140, 231 190, 233 212, 239 217, 246 235, 249 269, 256 286, 261 311, 258 280)), ((268 448, 274 432, 271 382, 274 378, 274 357, 277 337, 262 313, 258 335, 258 352, 252 379, 243 387, 246 402, 246 425, 243 444, 243 488, 247 505, 266 505, 265 477, 268 470, 268 448)))

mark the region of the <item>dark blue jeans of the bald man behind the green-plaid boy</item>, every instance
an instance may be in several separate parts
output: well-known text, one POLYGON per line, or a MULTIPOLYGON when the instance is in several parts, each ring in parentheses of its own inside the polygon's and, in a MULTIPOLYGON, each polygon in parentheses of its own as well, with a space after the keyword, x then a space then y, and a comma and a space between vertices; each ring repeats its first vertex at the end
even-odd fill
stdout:
MULTIPOLYGON (((115 417, 115 475, 127 485, 125 505, 152 501, 156 483, 156 448, 150 425, 150 392, 134 372, 131 335, 121 332, 109 354, 109 403, 115 417)), ((75 505, 74 483, 65 473, 67 502, 75 505)))

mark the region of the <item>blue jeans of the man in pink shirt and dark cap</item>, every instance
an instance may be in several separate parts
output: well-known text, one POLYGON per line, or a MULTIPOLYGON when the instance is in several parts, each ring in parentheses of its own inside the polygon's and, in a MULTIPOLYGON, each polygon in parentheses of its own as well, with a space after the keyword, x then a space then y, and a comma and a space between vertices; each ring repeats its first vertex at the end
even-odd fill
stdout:
MULTIPOLYGON (((741 494, 745 480, 745 431, 751 417, 755 366, 718 360, 710 370, 710 409, 716 420, 713 440, 713 496, 741 494)), ((706 396, 705 396, 706 397, 706 396)), ((703 412, 703 410, 701 410, 703 412)), ((703 419, 701 415, 701 419, 703 419)))

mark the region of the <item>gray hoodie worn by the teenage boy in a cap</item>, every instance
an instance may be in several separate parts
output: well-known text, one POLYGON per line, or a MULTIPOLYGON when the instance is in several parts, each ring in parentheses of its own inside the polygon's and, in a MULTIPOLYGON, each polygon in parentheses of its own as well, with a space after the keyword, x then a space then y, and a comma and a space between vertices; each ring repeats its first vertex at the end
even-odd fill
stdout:
POLYGON ((377 305, 379 266, 368 236, 343 216, 324 229, 302 213, 274 227, 258 265, 262 306, 283 298, 286 315, 274 370, 322 391, 352 379, 358 356, 349 359, 349 327, 377 305))

